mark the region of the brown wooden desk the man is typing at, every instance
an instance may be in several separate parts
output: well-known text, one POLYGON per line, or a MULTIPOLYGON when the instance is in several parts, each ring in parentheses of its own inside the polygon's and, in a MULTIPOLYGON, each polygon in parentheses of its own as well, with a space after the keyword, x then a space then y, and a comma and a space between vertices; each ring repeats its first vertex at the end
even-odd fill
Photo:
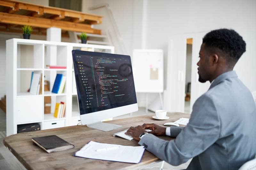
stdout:
MULTIPOLYGON (((190 117, 189 114, 182 113, 168 113, 167 115, 170 117, 168 120, 155 120, 152 118, 152 115, 144 115, 109 121, 109 123, 123 125, 123 127, 109 132, 91 129, 86 125, 24 132, 5 137, 4 145, 27 169, 130 169, 157 161, 158 158, 152 153, 145 151, 140 163, 132 164, 79 158, 73 156, 73 154, 80 150, 89 141, 139 146, 138 142, 135 140, 129 141, 120 137, 113 137, 112 134, 128 129, 131 126, 142 125, 143 123, 155 123, 163 126, 165 122, 174 122, 181 117, 190 117), (47 153, 31 141, 32 137, 42 137, 47 135, 57 135, 69 143, 74 144, 75 147, 66 151, 47 153)), ((166 136, 161 138, 165 140, 173 139, 166 136)))

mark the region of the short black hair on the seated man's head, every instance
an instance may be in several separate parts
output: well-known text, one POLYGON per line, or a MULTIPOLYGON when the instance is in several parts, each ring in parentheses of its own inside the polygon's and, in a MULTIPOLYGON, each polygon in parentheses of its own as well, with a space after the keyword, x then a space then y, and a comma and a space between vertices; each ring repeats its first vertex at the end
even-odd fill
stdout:
POLYGON ((245 52, 246 43, 236 31, 232 29, 217 29, 207 33, 203 38, 206 48, 217 48, 235 63, 245 52))

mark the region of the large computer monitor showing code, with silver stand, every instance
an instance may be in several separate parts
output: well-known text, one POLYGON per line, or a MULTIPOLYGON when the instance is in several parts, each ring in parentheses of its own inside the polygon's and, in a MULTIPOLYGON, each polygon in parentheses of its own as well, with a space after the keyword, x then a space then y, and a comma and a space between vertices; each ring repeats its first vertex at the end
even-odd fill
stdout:
POLYGON ((131 57, 72 50, 81 123, 109 131, 122 127, 101 122, 138 110, 131 57))

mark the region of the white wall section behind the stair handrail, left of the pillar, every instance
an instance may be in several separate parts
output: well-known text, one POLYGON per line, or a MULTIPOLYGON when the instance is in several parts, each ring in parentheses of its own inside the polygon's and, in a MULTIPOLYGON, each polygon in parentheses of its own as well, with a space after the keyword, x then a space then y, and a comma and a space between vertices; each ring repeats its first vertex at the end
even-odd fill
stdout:
MULTIPOLYGON (((102 24, 94 25, 94 28, 102 29, 103 34, 106 34, 106 32, 109 31, 111 38, 114 41, 114 46, 116 47, 116 53, 131 55, 133 41, 133 1, 88 0, 87 2, 83 1, 83 4, 88 4, 88 8, 109 4, 109 8, 111 9, 111 12, 117 23, 117 28, 121 34, 120 39, 118 39, 118 36, 116 35, 115 29, 113 27, 111 18, 106 7, 83 12, 102 15, 102 24), (122 45, 124 46, 124 51, 121 50, 122 45)), ((82 10, 86 10, 84 5, 82 7, 82 10)))

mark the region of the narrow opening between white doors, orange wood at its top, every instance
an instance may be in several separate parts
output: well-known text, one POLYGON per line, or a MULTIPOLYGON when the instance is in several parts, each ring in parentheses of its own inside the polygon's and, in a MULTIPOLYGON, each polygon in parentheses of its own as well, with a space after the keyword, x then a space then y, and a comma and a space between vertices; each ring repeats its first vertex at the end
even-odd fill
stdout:
POLYGON ((185 104, 184 113, 190 114, 190 92, 191 92, 191 67, 192 67, 192 44, 193 38, 187 38, 186 50, 186 78, 185 78, 185 104))

